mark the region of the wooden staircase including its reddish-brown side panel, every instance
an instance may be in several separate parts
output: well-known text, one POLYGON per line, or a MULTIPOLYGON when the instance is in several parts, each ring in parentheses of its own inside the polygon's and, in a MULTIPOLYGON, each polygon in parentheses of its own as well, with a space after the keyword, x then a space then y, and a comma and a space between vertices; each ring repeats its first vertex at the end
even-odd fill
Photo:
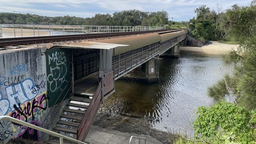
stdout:
MULTIPOLYGON (((91 79, 94 78, 91 77, 91 79)), ((92 81, 95 81, 95 79, 91 81, 87 79, 87 82, 79 82, 82 87, 78 85, 77 90, 75 88, 74 96, 69 98, 69 102, 65 105, 53 131, 82 142, 85 140, 100 104, 103 101, 103 97, 115 91, 113 71, 104 74, 103 78, 99 79, 99 82, 98 80, 96 81, 96 86, 90 86, 91 88, 89 88, 88 85, 95 84, 92 81), (90 90, 95 88, 95 90, 93 92, 87 92, 85 90, 84 92, 82 89, 85 87, 90 90)), ((70 141, 63 142, 72 144, 70 141)), ((50 136, 46 144, 59 144, 59 138, 50 136)))

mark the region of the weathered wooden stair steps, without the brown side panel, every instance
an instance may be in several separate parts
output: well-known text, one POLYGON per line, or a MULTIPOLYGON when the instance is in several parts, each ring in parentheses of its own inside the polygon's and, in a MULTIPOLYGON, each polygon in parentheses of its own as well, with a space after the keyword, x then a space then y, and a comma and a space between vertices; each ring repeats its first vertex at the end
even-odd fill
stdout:
MULTIPOLYGON (((92 97, 92 95, 74 94, 74 96, 70 97, 53 131, 77 139, 77 129, 91 103, 91 98, 89 97, 92 97)), ((59 144, 59 139, 50 136, 46 144, 59 144)))

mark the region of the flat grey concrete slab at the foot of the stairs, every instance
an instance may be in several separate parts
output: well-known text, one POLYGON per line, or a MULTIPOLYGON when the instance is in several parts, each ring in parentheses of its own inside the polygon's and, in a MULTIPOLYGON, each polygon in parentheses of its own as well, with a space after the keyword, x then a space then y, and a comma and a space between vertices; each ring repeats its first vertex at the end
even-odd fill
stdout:
MULTIPOLYGON (((89 130, 85 142, 88 144, 129 144, 131 136, 146 138, 146 144, 162 144, 160 141, 147 135, 122 133, 120 131, 104 129, 98 126, 91 126, 91 129, 89 130)), ((137 138, 134 138, 132 140, 132 144, 138 143, 139 140, 137 138)), ((144 140, 141 140, 141 143, 144 144, 144 140)))

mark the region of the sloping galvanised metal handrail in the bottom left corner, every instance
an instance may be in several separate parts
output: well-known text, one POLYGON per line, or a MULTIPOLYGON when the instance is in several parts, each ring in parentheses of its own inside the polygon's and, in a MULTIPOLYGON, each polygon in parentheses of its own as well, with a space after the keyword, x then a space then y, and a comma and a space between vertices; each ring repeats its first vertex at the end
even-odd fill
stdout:
POLYGON ((48 133, 50 135, 54 135, 55 137, 59 137, 59 142, 60 144, 63 144, 63 139, 67 139, 67 140, 70 140, 72 142, 76 142, 78 144, 87 144, 85 142, 81 142, 79 140, 76 140, 74 138, 70 138, 70 137, 67 137, 65 135, 61 135, 59 133, 56 133, 56 132, 53 132, 53 131, 49 131, 48 129, 44 129, 42 127, 39 127, 39 126, 35 126, 33 124, 30 124, 30 123, 27 123, 27 122, 23 122, 22 120, 18 120, 16 118, 13 118, 11 116, 0 116, 0 121, 1 120, 9 120, 11 122, 14 122, 14 123, 17 123, 17 124, 20 124, 20 125, 23 125, 23 126, 26 126, 26 127, 31 127, 32 129, 36 129, 38 131, 42 131, 44 133, 48 133))

